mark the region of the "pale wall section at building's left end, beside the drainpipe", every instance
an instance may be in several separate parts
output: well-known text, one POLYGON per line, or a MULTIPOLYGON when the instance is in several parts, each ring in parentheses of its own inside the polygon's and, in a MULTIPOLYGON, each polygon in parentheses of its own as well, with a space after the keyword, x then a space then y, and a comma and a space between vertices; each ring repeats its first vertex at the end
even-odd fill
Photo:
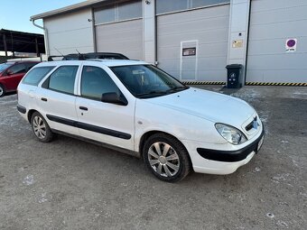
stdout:
POLYGON ((50 55, 94 51, 91 9, 60 14, 43 20, 48 32, 50 55), (88 19, 90 22, 88 22, 88 19))

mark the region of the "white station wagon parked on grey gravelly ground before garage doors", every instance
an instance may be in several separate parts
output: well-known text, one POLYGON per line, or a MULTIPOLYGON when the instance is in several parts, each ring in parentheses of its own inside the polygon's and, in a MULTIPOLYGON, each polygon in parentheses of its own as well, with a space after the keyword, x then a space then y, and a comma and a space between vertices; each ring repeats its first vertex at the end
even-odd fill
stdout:
POLYGON ((36 65, 18 87, 17 109, 42 143, 67 134, 143 157, 154 175, 229 174, 259 151, 264 127, 253 107, 186 87, 135 60, 36 65))

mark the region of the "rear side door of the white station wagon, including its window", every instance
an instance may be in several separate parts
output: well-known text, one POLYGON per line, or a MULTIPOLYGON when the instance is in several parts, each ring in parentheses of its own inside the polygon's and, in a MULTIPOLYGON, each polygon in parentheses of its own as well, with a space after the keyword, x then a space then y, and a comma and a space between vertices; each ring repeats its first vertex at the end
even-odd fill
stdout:
POLYGON ((79 65, 60 66, 38 91, 39 112, 47 118, 51 129, 79 135, 75 103, 75 84, 79 65))

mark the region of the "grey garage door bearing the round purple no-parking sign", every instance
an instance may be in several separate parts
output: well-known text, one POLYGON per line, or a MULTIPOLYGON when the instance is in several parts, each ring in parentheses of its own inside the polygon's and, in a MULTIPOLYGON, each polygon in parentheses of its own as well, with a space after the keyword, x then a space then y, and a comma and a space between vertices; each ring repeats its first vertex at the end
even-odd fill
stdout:
POLYGON ((247 82, 307 82, 306 12, 303 0, 252 1, 247 82))

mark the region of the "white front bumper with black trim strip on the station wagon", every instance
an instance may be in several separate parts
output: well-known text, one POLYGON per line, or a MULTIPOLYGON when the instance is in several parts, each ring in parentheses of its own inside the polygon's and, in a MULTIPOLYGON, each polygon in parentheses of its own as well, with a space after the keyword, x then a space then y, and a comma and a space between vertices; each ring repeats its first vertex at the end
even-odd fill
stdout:
POLYGON ((220 144, 216 146, 210 144, 210 148, 208 148, 206 143, 183 141, 190 153, 193 170, 218 175, 233 173, 239 167, 251 161, 260 150, 265 136, 263 125, 261 125, 261 128, 262 130, 252 140, 249 140, 247 145, 236 150, 219 150, 220 144))

